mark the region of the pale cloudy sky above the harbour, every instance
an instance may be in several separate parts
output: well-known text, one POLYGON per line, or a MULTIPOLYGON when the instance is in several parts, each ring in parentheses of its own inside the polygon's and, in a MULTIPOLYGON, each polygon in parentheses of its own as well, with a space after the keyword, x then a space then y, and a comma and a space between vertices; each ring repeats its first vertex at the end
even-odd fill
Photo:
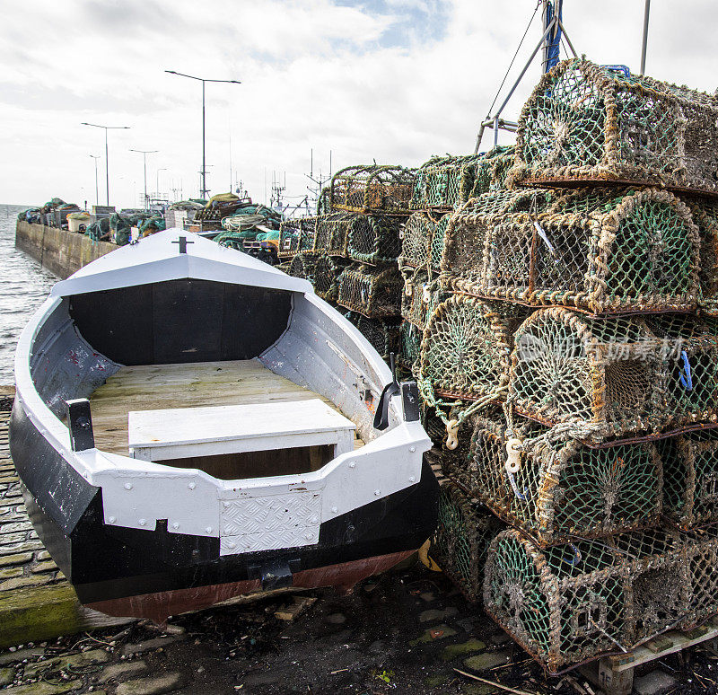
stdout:
MULTIPOLYGON (((52 197, 136 207, 147 188, 196 197, 206 84, 207 186, 241 180, 259 202, 273 179, 297 204, 313 172, 357 163, 417 166, 473 152, 536 0, 25 0, 0 25, 0 201, 52 197), (91 155, 100 155, 93 160, 91 155), (158 187, 159 184, 159 187, 158 187)), ((638 72, 644 0, 565 0, 579 55, 638 72)), ((718 86, 718 5, 653 0, 646 73, 718 86)), ((540 8, 503 94, 540 38, 540 8)), ((565 53, 562 52, 562 56, 565 53)), ((517 119, 530 66, 503 112, 517 119)), ((503 101, 500 99, 499 101, 503 101)), ((512 136, 502 135, 502 143, 512 136)), ((482 149, 490 145, 486 136, 482 149)))

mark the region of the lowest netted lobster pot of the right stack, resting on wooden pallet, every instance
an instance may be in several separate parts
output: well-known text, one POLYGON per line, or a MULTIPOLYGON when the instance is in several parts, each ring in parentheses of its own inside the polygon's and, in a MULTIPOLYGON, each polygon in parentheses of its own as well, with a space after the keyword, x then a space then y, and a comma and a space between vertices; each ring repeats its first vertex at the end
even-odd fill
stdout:
POLYGON ((626 650, 716 610, 706 572, 718 541, 677 532, 623 533, 540 550, 511 530, 486 559, 486 612, 551 672, 626 650))

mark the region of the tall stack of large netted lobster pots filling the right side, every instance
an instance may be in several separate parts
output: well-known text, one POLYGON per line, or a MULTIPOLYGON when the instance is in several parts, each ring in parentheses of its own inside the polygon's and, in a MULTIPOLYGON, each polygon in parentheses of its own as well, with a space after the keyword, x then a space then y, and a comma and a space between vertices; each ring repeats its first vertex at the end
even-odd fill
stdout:
POLYGON ((716 172, 718 99, 574 59, 445 227, 418 381, 511 527, 486 611, 552 672, 718 611, 716 172))

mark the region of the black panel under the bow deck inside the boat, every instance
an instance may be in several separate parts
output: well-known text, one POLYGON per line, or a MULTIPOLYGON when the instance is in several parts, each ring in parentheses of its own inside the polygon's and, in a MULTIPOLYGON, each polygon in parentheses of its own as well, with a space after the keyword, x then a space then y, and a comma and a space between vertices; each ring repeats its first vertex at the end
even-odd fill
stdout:
POLYGON ((282 335, 291 293, 181 279, 70 298, 77 330, 121 365, 251 359, 282 335))

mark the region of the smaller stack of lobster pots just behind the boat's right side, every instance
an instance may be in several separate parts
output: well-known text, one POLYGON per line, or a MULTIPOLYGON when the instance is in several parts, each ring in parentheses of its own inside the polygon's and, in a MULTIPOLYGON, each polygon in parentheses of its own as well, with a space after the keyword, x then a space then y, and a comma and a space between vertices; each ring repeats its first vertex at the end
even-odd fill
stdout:
POLYGON ((347 167, 322 190, 316 216, 279 228, 286 272, 309 280, 387 360, 401 340, 404 281, 397 259, 415 174, 400 166, 347 167))

